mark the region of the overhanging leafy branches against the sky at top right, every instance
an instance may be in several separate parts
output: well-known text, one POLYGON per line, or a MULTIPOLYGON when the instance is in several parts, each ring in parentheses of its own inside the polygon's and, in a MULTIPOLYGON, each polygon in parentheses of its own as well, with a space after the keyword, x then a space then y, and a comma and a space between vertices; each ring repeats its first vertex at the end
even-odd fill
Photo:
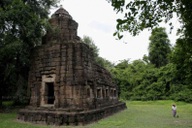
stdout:
MULTIPOLYGON (((124 13, 117 19, 115 35, 122 38, 121 32, 128 31, 137 35, 145 28, 152 29, 159 23, 168 23, 176 13, 183 27, 180 29, 186 37, 190 37, 192 28, 192 1, 189 0, 107 0, 117 13, 124 13)), ((174 27, 170 22, 171 29, 174 27)))

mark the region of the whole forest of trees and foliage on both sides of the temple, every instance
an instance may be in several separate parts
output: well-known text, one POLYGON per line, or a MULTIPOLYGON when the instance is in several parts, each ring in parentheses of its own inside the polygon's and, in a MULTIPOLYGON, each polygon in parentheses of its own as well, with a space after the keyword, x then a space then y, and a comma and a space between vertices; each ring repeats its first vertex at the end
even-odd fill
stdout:
MULTIPOLYGON (((95 62, 111 72, 125 100, 177 100, 192 102, 192 2, 187 0, 108 0, 118 13, 114 36, 123 31, 132 35, 148 28, 149 55, 143 59, 122 60, 118 64, 99 57, 99 48, 89 36, 82 41, 93 48, 95 62), (154 11, 155 10, 155 11, 154 11), (165 28, 157 27, 176 13, 182 27, 174 47, 165 28), (150 15, 149 15, 150 14, 150 15), (137 17, 137 18, 134 18, 137 17)), ((58 0, 2 0, 0 3, 0 107, 2 102, 27 104, 27 78, 32 50, 41 45, 49 28, 48 15, 58 0)), ((172 24, 170 23, 170 29, 172 24)))

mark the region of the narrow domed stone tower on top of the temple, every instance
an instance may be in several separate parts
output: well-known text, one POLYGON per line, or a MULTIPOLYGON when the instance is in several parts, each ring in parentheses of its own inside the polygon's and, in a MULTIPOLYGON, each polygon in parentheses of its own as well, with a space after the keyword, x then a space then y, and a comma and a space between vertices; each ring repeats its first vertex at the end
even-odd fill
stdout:
POLYGON ((43 44, 58 43, 69 40, 80 40, 77 36, 78 23, 72 19, 69 13, 60 8, 49 20, 50 30, 43 37, 43 44))

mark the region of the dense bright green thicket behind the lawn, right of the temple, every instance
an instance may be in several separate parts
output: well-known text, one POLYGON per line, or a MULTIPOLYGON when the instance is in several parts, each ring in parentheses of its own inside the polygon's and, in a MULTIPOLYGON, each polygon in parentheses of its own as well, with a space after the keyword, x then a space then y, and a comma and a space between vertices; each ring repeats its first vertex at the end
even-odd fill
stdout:
MULTIPOLYGON (((122 61, 111 70, 111 73, 119 85, 119 96, 122 99, 174 99, 186 102, 192 100, 190 96, 186 99, 182 98, 186 89, 178 93, 178 90, 174 88, 178 83, 175 64, 169 63, 161 68, 155 68, 142 60, 135 60, 132 63, 122 61)), ((186 91, 189 92, 189 90, 186 91)))

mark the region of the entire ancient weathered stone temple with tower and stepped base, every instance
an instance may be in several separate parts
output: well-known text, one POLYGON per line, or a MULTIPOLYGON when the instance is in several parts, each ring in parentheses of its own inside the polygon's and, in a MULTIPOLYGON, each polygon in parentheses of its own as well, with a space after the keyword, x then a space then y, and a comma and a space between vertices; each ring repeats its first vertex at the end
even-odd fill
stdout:
POLYGON ((34 49, 28 86, 30 104, 18 119, 54 125, 84 125, 126 108, 107 70, 77 36, 78 24, 64 9, 49 20, 51 29, 34 49))

